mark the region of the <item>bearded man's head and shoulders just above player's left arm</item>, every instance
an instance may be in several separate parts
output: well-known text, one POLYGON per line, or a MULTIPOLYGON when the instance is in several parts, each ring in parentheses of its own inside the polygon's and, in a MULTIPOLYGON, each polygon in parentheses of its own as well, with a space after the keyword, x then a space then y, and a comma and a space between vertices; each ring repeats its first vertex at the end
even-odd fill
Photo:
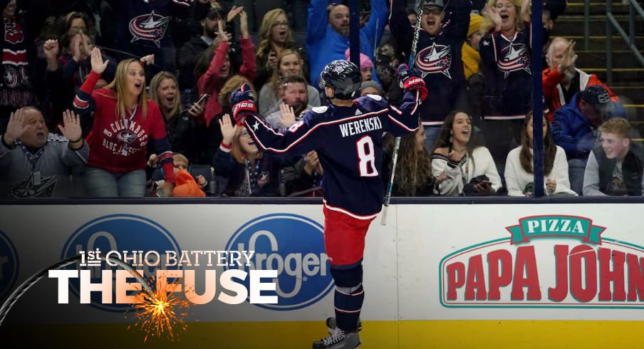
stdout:
POLYGON ((281 80, 279 96, 280 110, 266 115, 266 123, 269 123, 271 127, 289 127, 296 120, 300 119, 296 118, 296 115, 301 116, 306 110, 313 108, 313 105, 307 104, 308 90, 306 90, 306 79, 301 75, 285 76, 281 80), (291 113, 287 115, 293 115, 293 118, 284 118, 281 110, 282 105, 291 108, 291 113))

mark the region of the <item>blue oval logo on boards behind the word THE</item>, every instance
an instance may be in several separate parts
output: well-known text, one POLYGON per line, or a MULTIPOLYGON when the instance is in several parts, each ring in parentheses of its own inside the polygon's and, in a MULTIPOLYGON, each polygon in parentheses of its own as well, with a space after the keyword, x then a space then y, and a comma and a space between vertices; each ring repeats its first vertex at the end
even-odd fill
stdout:
MULTIPOLYGON (((76 256, 80 251, 95 251, 100 249, 103 254, 109 251, 181 251, 174 236, 163 226, 145 217, 132 214, 113 214, 99 217, 93 221, 83 224, 74 231, 63 247, 61 259, 76 256)), ((130 256, 132 256, 130 254, 130 256)), ((127 263, 128 261, 125 260, 127 263)), ((144 276, 152 276, 156 269, 176 269, 175 266, 165 266, 162 261, 157 267, 140 266, 144 276)), ((68 269, 81 269, 78 264, 68 269)), ((110 267, 103 263, 100 267, 90 267, 92 271, 92 283, 100 282, 102 270, 116 271, 118 267, 110 267)), ((112 273, 115 277, 116 273, 112 273)), ((113 280, 115 284, 115 280, 113 280)), ((70 291, 78 297, 79 279, 73 278, 70 281, 70 291)), ((115 299, 115 294, 113 294, 115 299)), ((130 304, 103 304, 100 293, 93 292, 91 305, 105 311, 124 311, 131 308, 130 304)))

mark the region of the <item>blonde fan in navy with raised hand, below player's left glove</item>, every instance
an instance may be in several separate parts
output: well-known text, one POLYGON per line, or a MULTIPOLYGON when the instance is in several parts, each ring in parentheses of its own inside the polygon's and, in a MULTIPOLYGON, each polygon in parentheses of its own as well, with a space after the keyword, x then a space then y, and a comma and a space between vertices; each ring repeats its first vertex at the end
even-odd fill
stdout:
POLYGON ((276 196, 279 194, 277 158, 264 155, 244 127, 234 127, 228 114, 218 119, 222 145, 212 166, 218 176, 228 179, 222 195, 227 197, 276 196))

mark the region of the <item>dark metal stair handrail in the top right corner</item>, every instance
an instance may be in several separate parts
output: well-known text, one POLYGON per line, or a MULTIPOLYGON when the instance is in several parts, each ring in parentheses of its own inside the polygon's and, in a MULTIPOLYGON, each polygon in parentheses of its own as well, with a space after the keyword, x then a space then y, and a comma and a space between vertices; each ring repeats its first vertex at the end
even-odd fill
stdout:
MULTIPOLYGON (((588 4, 588 1, 586 1, 588 4)), ((640 53, 637 46, 635 46, 635 12, 644 19, 644 10, 642 6, 635 0, 628 0, 628 31, 622 28, 615 16, 613 16, 613 1, 606 1, 606 83, 611 85, 613 83, 613 28, 620 34, 622 39, 633 51, 633 55, 638 59, 640 64, 644 66, 644 56, 640 53)), ((585 33, 587 35, 587 33, 585 33)))

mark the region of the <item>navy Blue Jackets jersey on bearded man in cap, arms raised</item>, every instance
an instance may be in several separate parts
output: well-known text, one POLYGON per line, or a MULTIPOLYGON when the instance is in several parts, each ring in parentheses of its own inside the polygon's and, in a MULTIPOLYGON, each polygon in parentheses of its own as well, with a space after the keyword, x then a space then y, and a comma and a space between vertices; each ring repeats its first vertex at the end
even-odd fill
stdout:
MULTIPOLYGON (((429 91, 429 99, 420 106, 423 125, 442 125, 443 120, 455 109, 457 98, 465 92, 462 47, 469 28, 469 0, 445 1, 445 19, 436 35, 420 29, 416 46, 414 68, 422 73, 429 91)), ((409 57, 414 37, 403 0, 391 1, 389 26, 398 42, 398 49, 409 57)), ((420 21, 420 19, 419 19, 420 21)))

